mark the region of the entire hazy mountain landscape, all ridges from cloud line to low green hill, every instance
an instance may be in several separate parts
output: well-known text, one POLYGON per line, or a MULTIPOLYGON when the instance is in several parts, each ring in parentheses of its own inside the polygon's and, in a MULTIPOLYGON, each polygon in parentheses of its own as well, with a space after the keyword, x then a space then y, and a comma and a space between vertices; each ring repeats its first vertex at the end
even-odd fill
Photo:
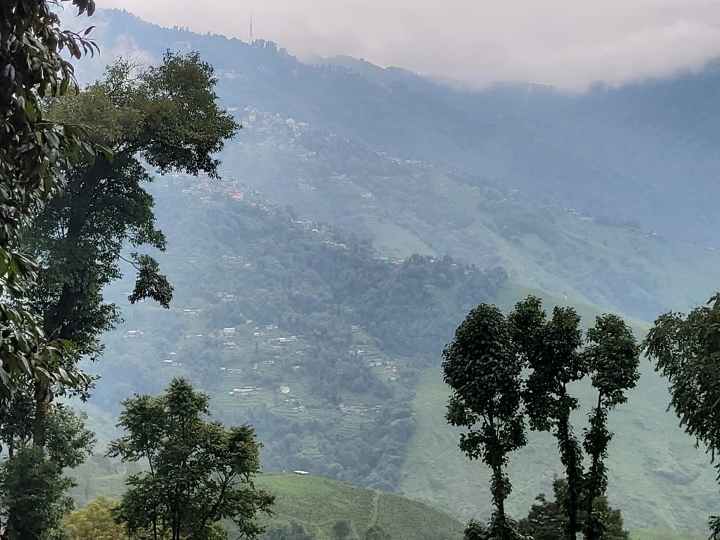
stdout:
MULTIPOLYGON (((640 338, 642 320, 716 287, 714 64, 582 95, 469 91, 352 58, 300 63, 271 42, 125 12, 97 17, 102 61, 199 50, 245 126, 220 181, 152 187, 176 297, 166 311, 127 305, 127 282, 107 291, 125 323, 92 368, 104 439, 123 397, 186 375, 217 418, 256 427, 266 470, 485 518, 487 472, 459 456, 438 369, 467 311, 533 293, 578 307, 588 325, 631 315, 640 338)), ((91 78, 101 64, 83 69, 91 78)), ((665 383, 643 370, 611 418, 611 503, 632 528, 703 532, 714 473, 665 411, 665 383)), ((518 515, 549 491, 555 456, 542 437, 513 456, 518 515)), ((96 458, 85 471, 103 467, 96 458)))

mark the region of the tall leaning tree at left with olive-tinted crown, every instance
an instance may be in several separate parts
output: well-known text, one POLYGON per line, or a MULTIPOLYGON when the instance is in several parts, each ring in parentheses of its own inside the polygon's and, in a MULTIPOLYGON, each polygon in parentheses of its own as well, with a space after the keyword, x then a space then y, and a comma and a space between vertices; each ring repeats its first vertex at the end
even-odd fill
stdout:
MULTIPOLYGON (((118 60, 102 81, 55 102, 53 117, 89 127, 91 140, 112 152, 112 159, 105 153, 69 170, 65 195, 45 207, 26 235, 30 251, 42 261, 33 301, 45 333, 76 343, 66 367, 78 356, 98 356, 97 336, 120 319, 102 290, 122 274, 125 243, 165 248, 153 198, 144 187, 153 179, 147 166, 161 173, 217 176, 213 154, 238 125, 217 106, 215 83, 212 66, 197 53, 168 53, 161 66, 144 71, 118 60)), ((155 259, 132 253, 128 262, 137 271, 130 301, 150 297, 168 307, 172 289, 155 259)), ((35 384, 40 446, 54 390, 52 384, 35 384)))

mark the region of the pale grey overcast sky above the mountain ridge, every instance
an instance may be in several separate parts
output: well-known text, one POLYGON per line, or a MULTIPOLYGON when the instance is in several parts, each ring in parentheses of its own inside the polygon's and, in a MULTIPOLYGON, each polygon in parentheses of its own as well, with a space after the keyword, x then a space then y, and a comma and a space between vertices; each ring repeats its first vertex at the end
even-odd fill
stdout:
POLYGON ((99 0, 150 22, 449 76, 582 90, 720 55, 720 0, 99 0))

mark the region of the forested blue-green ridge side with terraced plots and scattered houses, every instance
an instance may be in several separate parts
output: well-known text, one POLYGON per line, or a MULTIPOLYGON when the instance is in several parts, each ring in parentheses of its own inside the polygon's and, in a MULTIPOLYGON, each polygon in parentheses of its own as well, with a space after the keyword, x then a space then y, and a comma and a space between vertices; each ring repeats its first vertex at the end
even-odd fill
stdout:
POLYGON ((102 376, 91 404, 116 415, 125 397, 186 375, 218 418, 255 426, 267 469, 397 489, 420 372, 504 271, 382 256, 229 178, 153 188, 173 307, 129 307, 127 284, 109 291, 125 324, 89 366, 102 376))

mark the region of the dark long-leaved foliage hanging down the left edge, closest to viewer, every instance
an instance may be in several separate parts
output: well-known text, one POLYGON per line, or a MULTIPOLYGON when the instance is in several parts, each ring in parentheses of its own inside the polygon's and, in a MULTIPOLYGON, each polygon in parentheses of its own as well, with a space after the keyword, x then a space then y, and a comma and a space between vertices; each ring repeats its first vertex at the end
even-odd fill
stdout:
MULTIPOLYGON (((86 382, 56 365, 64 345, 50 342, 24 305, 36 265, 19 245, 32 218, 63 189, 61 169, 94 155, 83 130, 48 120, 41 104, 77 87, 63 49, 76 59, 94 52, 89 30, 79 35, 60 29, 52 6, 61 1, 0 3, 0 405, 12 397, 19 377, 86 382)), ((79 14, 95 9, 94 0, 72 4, 79 14)))

